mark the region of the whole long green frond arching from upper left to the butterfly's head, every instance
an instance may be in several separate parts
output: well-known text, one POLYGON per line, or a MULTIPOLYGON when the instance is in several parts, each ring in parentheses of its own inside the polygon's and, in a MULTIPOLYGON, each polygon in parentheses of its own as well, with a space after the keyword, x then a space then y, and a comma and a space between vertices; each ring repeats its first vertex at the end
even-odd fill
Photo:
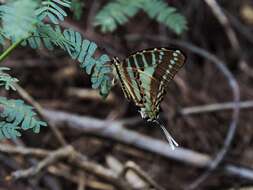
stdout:
POLYGON ((100 89, 100 94, 106 97, 111 89, 111 66, 108 64, 110 58, 101 55, 95 58, 94 54, 97 45, 87 39, 83 39, 81 34, 72 29, 65 29, 63 32, 59 26, 41 25, 34 36, 23 42, 32 48, 40 47, 41 43, 52 50, 60 47, 66 51, 72 59, 80 63, 82 69, 91 75, 92 88, 100 89))

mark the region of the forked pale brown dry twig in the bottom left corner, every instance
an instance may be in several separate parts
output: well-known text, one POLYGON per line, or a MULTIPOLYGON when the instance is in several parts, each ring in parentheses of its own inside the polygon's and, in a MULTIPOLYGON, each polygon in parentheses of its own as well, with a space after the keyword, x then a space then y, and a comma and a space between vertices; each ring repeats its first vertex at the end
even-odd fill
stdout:
POLYGON ((66 146, 56 151, 46 151, 43 149, 32 149, 25 147, 14 147, 10 145, 1 145, 0 152, 6 154, 20 154, 20 155, 33 155, 35 157, 45 157, 42 161, 38 162, 35 166, 32 166, 25 170, 15 171, 7 179, 20 179, 28 178, 30 176, 38 174, 42 169, 48 167, 54 162, 60 159, 66 159, 71 165, 74 165, 86 172, 89 172, 105 181, 110 182, 114 186, 122 190, 132 190, 131 186, 113 173, 111 170, 104 168, 97 163, 88 161, 85 156, 75 151, 72 146, 66 146))

